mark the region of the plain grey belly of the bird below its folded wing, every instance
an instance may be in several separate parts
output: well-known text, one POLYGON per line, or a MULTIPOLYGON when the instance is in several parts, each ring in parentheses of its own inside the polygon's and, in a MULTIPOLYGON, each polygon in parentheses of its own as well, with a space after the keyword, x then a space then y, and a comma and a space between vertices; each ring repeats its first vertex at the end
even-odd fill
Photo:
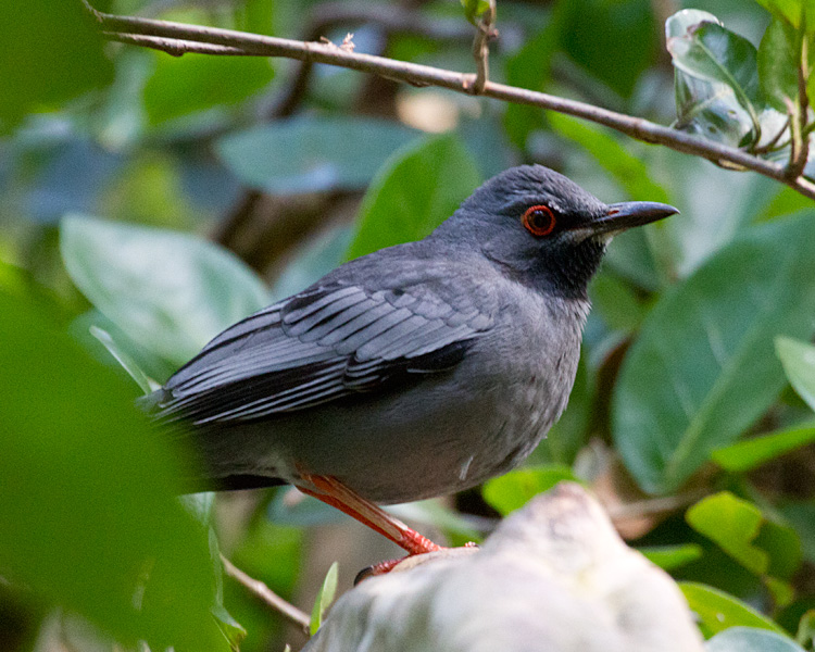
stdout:
POLYGON ((374 502, 452 493, 524 460, 562 411, 551 394, 531 376, 478 391, 425 379, 391 398, 329 404, 296 417, 291 457, 374 502))

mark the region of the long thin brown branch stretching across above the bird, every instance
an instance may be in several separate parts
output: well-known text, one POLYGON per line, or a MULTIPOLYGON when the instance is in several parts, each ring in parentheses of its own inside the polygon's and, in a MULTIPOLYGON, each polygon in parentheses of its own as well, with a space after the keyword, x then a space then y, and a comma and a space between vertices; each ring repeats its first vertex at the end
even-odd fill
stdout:
MULTIPOLYGON (((173 39, 174 53, 180 54, 184 51, 200 51, 201 43, 209 43, 239 49, 244 55, 284 57, 313 63, 325 63, 381 75, 414 86, 436 86, 467 95, 472 95, 473 92, 472 74, 396 61, 384 57, 348 52, 331 43, 297 41, 230 29, 117 16, 99 12, 96 15, 101 23, 102 32, 109 38, 115 37, 121 40, 120 37, 123 35, 141 35, 173 39), (184 50, 184 48, 188 49, 184 50)), ((153 41, 139 45, 160 50, 165 49, 160 46, 166 46, 166 43, 153 41)), ((585 102, 489 80, 485 80, 481 95, 504 102, 527 104, 559 113, 566 113, 611 127, 636 140, 663 145, 682 153, 702 156, 719 165, 751 170, 787 184, 810 199, 815 199, 815 184, 802 176, 791 177, 783 165, 758 159, 736 148, 690 136, 644 118, 632 117, 585 102)))

